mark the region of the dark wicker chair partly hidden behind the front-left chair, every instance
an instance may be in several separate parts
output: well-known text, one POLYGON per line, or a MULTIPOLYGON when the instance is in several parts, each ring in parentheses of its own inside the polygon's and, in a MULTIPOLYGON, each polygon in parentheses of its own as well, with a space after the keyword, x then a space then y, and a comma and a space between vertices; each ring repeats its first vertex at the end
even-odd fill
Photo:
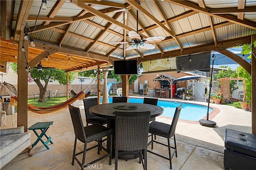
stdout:
POLYGON ((107 123, 106 118, 92 115, 89 111, 90 107, 98 105, 98 99, 97 98, 89 98, 89 99, 84 99, 83 101, 84 101, 84 112, 85 112, 85 118, 86 118, 86 126, 88 126, 88 124, 95 124, 95 123, 105 125, 107 123))

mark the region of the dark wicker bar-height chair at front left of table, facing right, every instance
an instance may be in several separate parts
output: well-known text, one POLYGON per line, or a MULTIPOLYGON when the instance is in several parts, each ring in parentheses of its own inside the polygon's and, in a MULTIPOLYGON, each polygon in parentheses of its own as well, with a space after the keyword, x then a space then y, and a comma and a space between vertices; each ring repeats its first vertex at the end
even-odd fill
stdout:
POLYGON ((109 156, 109 164, 111 165, 112 164, 112 129, 105 127, 103 125, 100 125, 98 123, 84 127, 83 122, 82 122, 82 117, 80 114, 80 109, 78 107, 74 107, 71 105, 68 105, 68 108, 70 111, 70 116, 72 119, 72 124, 73 124, 74 132, 75 132, 75 142, 74 142, 74 150, 73 150, 73 155, 72 155, 72 165, 74 165, 74 160, 76 160, 76 162, 81 167, 81 170, 83 170, 88 165, 94 164, 95 162, 98 162, 99 160, 102 160, 102 159, 106 158, 107 156, 109 156), (109 151, 106 148, 104 148, 100 143, 100 141, 101 141, 100 139, 102 139, 103 137, 107 137, 108 135, 110 135, 110 150, 109 151), (84 143, 84 150, 81 152, 78 152, 78 153, 76 153, 77 139, 79 141, 81 141, 82 143, 84 143), (95 140, 98 141, 98 145, 95 145, 95 146, 87 149, 86 148, 87 143, 90 143, 95 140), (100 148, 101 148, 101 149, 105 150, 107 152, 107 154, 88 163, 88 164, 85 164, 86 151, 91 150, 96 147, 98 147, 98 153, 100 152, 100 148), (82 163, 81 163, 79 161, 79 159, 77 158, 77 156, 82 153, 83 153, 83 158, 82 158, 82 163))

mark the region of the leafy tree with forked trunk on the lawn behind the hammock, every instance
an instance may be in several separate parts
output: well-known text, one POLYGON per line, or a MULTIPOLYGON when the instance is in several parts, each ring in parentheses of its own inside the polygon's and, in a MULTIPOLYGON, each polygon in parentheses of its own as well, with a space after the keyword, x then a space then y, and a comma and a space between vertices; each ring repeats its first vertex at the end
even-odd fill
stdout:
MULTIPOLYGON (((10 63, 10 66, 12 67, 12 70, 17 73, 18 64, 17 63, 10 63)), ((69 76, 69 83, 71 83, 74 79, 75 72, 70 72, 68 74, 69 76)), ((47 90, 47 86, 49 82, 58 81, 59 84, 66 85, 66 77, 67 73, 64 72, 64 70, 60 69, 42 69, 38 70, 35 68, 32 68, 30 70, 30 76, 34 78, 34 82, 39 87, 40 96, 38 102, 44 102, 45 101, 45 94, 47 90), (43 86, 40 80, 43 80, 45 82, 45 85, 43 86)))

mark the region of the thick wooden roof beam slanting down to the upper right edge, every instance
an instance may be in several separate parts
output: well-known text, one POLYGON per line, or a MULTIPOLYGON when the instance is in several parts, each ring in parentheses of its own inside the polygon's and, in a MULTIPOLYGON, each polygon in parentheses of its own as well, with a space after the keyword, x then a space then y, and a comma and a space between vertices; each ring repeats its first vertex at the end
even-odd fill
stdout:
POLYGON ((248 28, 251 28, 251 29, 256 29, 256 23, 255 22, 252 22, 252 21, 248 21, 248 20, 238 20, 236 17, 232 16, 232 15, 228 15, 228 14, 212 14, 210 13, 210 11, 212 9, 203 9, 203 8, 200 8, 197 4, 193 4, 192 2, 188 2, 188 1, 177 1, 177 0, 165 0, 166 2, 170 2, 172 4, 176 4, 178 6, 183 6, 184 8, 188 8, 188 9, 191 9, 191 10, 194 10, 194 11, 197 11, 197 12, 201 12, 203 14, 206 14, 206 15, 210 15, 210 16, 213 16, 213 17, 216 17, 216 18, 220 18, 222 20, 226 20, 226 21, 230 21, 232 23, 236 23, 238 25, 242 25, 244 27, 248 27, 248 28))

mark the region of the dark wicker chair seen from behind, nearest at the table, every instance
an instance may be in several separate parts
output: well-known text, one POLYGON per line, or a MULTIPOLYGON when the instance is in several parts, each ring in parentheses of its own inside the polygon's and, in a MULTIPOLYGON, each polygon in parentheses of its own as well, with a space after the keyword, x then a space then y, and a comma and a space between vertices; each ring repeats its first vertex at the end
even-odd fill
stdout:
POLYGON ((115 113, 115 170, 118 169, 118 155, 121 154, 139 154, 139 163, 142 161, 144 170, 147 169, 149 119, 150 111, 115 113))

